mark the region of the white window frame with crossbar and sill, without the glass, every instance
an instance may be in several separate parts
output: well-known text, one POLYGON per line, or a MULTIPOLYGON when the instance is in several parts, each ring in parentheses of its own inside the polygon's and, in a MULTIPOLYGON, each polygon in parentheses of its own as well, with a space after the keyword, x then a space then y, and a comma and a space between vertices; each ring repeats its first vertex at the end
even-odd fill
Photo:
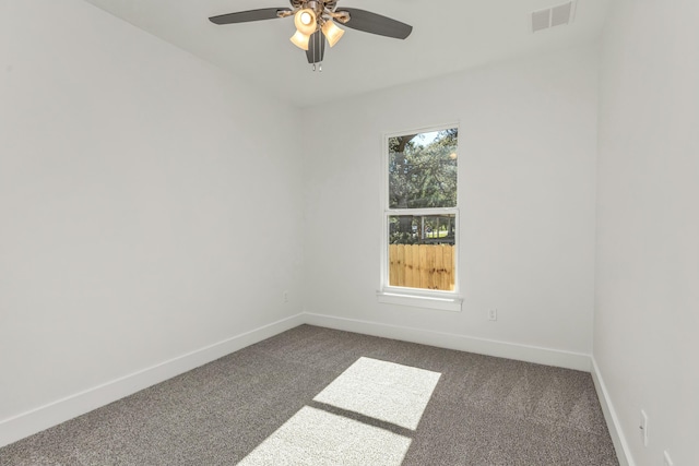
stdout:
MULTIPOLYGON (((436 309, 442 311, 461 312, 463 298, 459 290, 460 275, 460 236, 461 225, 459 216, 459 191, 460 191, 460 168, 457 169, 457 206, 455 207, 435 207, 435 208, 389 208, 389 139, 405 134, 429 133, 455 128, 461 135, 459 123, 440 124, 436 127, 419 128, 413 130, 403 130, 398 132, 384 133, 381 148, 381 284, 377 291, 378 301, 386 304, 408 306, 423 309, 436 309), (454 241, 454 290, 442 291, 424 288, 407 288, 389 285, 389 217, 395 215, 454 215, 457 224, 457 238, 454 241)), ((459 163, 461 166, 461 160, 459 163)))

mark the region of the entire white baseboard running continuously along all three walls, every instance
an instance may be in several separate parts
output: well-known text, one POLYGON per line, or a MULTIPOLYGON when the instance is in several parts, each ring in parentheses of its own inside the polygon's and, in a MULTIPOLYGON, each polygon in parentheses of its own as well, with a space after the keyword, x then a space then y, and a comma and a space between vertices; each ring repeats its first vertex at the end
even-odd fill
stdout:
MULTIPOLYGON (((66 398, 22 413, 17 416, 0 420, 0 447, 40 432, 42 430, 57 426, 74 417, 81 416, 100 406, 116 402, 140 390, 171 379, 173 377, 179 375, 301 324, 324 326, 347 332, 363 333, 366 335, 401 339, 441 348, 458 349, 547 366, 556 366, 585 372, 591 371, 590 356, 579 353, 516 345, 451 333, 433 332, 422 328, 354 319, 343 319, 332 315, 300 313, 250 332, 233 336, 223 342, 215 343, 186 355, 181 355, 117 380, 106 382, 102 385, 94 386, 66 398)), ((595 380, 595 385, 601 381, 596 368, 593 371, 593 379, 595 380)), ((601 393, 601 401, 604 397, 603 407, 605 407, 605 402, 607 401, 605 397, 606 392, 604 389, 599 389, 597 392, 601 393), (604 395, 602 395, 603 393, 604 395)), ((611 407, 611 404, 608 406, 611 407)), ((605 410, 605 416, 607 416, 607 410, 605 410)), ((616 419, 616 417, 612 416, 612 419, 616 419)), ((616 432, 612 431, 614 430, 613 427, 617 428, 618 422, 611 422, 609 418, 607 418, 607 423, 609 425, 609 431, 613 440, 615 441, 616 447, 619 437, 617 434, 615 438, 616 432)), ((617 452, 619 452, 618 447, 617 452)), ((621 453, 618 454, 621 456, 621 453)), ((621 461, 621 458, 619 461, 621 461)), ((631 466, 633 465, 631 464, 631 466)))

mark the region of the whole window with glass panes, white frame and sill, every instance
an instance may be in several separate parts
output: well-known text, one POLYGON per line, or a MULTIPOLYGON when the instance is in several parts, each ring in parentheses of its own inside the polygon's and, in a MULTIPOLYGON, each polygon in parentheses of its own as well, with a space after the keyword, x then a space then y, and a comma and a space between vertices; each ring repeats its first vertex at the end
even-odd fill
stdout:
POLYGON ((458 138, 455 127, 386 138, 381 302, 461 310, 458 138))

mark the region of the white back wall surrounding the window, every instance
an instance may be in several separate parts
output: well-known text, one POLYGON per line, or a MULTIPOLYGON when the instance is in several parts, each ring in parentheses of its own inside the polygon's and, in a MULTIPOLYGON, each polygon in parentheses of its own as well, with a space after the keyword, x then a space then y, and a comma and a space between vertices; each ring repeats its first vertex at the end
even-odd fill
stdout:
MULTIPOLYGON (((305 307, 322 315, 311 322, 589 355, 596 96, 590 46, 306 110, 305 307), (382 134, 450 122, 461 123, 463 311, 378 303, 382 134)), ((501 354, 525 358, 510 349, 501 354)))

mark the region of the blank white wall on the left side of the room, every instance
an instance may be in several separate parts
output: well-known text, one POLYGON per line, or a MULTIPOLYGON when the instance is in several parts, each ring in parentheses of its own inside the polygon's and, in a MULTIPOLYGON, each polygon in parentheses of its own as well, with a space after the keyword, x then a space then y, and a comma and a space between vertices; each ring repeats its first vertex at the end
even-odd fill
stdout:
POLYGON ((81 0, 0 2, 0 445, 301 311, 295 117, 81 0))

